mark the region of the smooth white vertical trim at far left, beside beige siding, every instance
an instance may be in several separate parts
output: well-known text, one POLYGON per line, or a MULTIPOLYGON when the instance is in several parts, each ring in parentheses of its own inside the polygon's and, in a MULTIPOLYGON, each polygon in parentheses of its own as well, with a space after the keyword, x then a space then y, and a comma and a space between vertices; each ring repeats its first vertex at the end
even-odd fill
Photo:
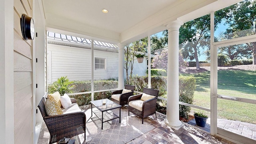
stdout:
POLYGON ((0 4, 0 137, 2 144, 14 144, 14 1, 0 4))

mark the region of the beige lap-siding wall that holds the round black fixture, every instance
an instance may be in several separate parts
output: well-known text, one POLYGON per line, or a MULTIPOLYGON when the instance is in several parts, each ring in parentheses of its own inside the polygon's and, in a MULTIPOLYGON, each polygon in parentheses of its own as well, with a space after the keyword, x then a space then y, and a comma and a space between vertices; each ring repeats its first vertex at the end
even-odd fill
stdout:
MULTIPOLYGON (((10 57, 13 56, 13 63, 8 64, 8 66, 13 64, 13 67, 10 66, 13 68, 13 86, 10 88, 14 94, 6 96, 13 98, 14 110, 6 109, 6 112, 14 112, 14 144, 34 143, 34 42, 22 38, 20 26, 22 14, 34 16, 33 3, 33 0, 14 0, 13 17, 11 17, 14 20, 13 31, 8 31, 8 33, 14 34, 11 48, 13 52, 10 55, 10 57)), ((8 74, 5 76, 8 77, 8 74)), ((8 140, 12 141, 12 139, 8 140)))

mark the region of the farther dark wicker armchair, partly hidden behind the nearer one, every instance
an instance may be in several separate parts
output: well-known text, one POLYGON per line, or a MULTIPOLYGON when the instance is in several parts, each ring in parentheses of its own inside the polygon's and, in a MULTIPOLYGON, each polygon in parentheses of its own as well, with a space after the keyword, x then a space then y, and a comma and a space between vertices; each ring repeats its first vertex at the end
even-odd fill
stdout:
POLYGON ((131 85, 126 84, 124 86, 124 88, 127 89, 127 90, 132 90, 132 91, 122 94, 123 90, 116 90, 116 91, 113 91, 112 94, 111 94, 112 95, 111 100, 113 102, 117 103, 117 104, 120 104, 121 106, 123 106, 125 104, 128 104, 128 98, 133 95, 133 91, 134 91, 135 86, 131 86, 131 85), (119 94, 120 94, 120 96, 119 96, 119 94), (119 96, 119 100, 115 99, 114 95, 119 96))

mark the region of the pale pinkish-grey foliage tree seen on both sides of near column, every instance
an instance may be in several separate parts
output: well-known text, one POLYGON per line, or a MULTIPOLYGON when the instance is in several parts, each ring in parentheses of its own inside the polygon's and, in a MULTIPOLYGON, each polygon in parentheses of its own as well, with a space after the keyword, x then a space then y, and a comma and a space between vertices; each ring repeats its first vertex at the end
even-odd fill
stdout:
MULTIPOLYGON (((163 68, 167 71, 168 66, 168 49, 164 48, 161 53, 156 53, 156 56, 152 60, 153 68, 163 68)), ((188 66, 187 62, 184 62, 182 54, 179 53, 179 71, 188 66)))

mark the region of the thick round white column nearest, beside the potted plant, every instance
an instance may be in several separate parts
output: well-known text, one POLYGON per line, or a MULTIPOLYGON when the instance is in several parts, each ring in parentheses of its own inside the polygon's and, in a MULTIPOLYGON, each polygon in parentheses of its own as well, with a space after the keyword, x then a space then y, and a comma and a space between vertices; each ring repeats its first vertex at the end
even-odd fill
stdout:
POLYGON ((172 128, 180 128, 179 120, 179 28, 183 24, 175 20, 167 24, 168 30, 168 73, 167 73, 167 105, 165 124, 172 128))

